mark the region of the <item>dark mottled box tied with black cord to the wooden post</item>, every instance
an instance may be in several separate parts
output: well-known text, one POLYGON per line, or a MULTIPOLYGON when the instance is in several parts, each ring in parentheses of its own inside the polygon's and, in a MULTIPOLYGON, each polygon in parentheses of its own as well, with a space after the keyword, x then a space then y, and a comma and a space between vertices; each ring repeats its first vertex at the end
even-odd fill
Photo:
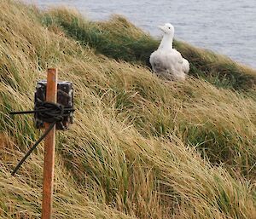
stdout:
MULTIPOLYGON (((35 91, 35 110, 39 102, 46 100, 46 85, 45 80, 39 81, 35 91)), ((57 103, 64 108, 73 108, 73 84, 67 81, 61 81, 57 84, 57 103)), ((37 129, 44 128, 44 122, 38 118, 37 112, 34 114, 35 125, 37 129)), ((73 112, 64 116, 61 122, 56 124, 56 130, 67 130, 69 124, 73 124, 73 112)))

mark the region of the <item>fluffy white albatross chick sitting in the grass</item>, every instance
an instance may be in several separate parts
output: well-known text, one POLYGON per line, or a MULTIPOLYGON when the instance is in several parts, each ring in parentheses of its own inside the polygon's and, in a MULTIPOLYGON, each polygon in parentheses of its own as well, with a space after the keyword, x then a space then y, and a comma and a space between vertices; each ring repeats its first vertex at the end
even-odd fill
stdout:
POLYGON ((149 62, 153 71, 168 80, 185 80, 189 72, 189 61, 172 48, 174 37, 174 27, 167 23, 160 26, 160 30, 164 32, 164 36, 159 48, 150 55, 149 62))

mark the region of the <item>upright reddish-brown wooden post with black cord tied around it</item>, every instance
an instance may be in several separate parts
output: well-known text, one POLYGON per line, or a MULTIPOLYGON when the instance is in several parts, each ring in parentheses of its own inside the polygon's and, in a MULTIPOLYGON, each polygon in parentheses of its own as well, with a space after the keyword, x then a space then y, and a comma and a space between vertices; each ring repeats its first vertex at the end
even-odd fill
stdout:
MULTIPOLYGON (((56 102, 57 97, 57 77, 55 68, 49 68, 47 72, 46 101, 56 102)), ((49 124, 45 124, 48 129, 49 124)), ((43 205, 42 219, 51 218, 52 196, 55 167, 55 127, 45 137, 44 141, 44 184, 43 184, 43 205)))

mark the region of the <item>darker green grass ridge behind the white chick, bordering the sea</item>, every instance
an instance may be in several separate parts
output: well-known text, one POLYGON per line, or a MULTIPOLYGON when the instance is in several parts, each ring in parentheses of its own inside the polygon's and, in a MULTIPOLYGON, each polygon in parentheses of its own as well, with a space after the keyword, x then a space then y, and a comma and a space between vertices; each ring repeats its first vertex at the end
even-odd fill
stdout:
MULTIPOLYGON (((63 8, 42 14, 40 20, 50 29, 62 31, 80 43, 90 45, 97 53, 147 66, 150 66, 149 55, 160 43, 118 15, 107 22, 91 22, 77 12, 63 8)), ((224 55, 178 41, 174 41, 174 47, 189 60, 190 75, 224 88, 248 89, 255 84, 255 70, 224 55)))

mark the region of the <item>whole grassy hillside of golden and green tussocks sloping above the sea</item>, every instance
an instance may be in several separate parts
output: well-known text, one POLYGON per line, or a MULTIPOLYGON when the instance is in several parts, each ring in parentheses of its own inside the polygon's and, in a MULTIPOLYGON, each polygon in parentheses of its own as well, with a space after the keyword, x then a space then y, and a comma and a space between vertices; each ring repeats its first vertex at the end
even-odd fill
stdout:
POLYGON ((255 218, 256 72, 187 43, 185 82, 148 67, 158 41, 122 17, 92 22, 0 2, 0 218, 40 218, 44 144, 32 116, 47 67, 75 87, 58 132, 54 218, 255 218))

